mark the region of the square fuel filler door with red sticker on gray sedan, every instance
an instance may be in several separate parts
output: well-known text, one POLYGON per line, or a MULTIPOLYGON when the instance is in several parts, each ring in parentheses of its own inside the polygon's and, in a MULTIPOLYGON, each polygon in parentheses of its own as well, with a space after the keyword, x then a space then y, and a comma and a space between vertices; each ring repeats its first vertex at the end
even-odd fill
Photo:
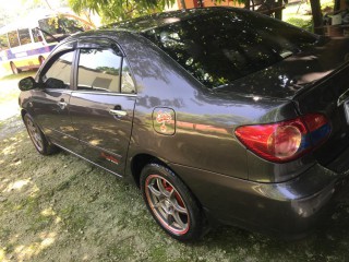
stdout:
POLYGON ((174 110, 171 108, 155 108, 153 124, 156 132, 161 134, 174 133, 174 110))

